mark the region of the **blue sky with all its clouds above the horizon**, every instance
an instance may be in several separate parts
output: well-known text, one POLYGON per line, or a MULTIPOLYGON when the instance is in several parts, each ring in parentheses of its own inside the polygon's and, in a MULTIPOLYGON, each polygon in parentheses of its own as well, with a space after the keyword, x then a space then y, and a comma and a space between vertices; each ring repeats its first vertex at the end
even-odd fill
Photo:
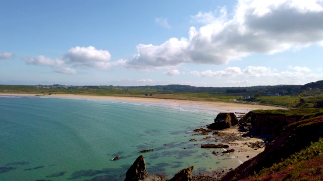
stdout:
POLYGON ((323 0, 0 0, 0 84, 323 80, 323 0))

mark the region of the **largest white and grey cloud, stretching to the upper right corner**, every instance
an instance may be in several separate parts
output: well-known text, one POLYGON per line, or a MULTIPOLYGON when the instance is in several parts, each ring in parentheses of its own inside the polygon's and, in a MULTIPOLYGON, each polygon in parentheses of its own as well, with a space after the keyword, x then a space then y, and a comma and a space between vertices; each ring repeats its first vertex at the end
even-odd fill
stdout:
POLYGON ((225 8, 193 16, 188 38, 170 38, 161 45, 139 44, 127 59, 135 69, 196 64, 227 64, 253 53, 274 54, 323 45, 323 1, 241 0, 232 18, 225 8))

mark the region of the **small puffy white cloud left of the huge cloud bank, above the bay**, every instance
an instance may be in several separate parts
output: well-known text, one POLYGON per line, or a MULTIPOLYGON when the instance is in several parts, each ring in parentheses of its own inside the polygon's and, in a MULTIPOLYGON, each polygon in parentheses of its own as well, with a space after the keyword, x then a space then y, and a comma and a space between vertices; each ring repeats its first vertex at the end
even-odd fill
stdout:
POLYGON ((89 47, 72 47, 61 58, 48 58, 40 55, 36 58, 22 58, 30 65, 42 65, 51 67, 60 67, 55 70, 58 73, 75 74, 76 68, 97 68, 101 70, 111 67, 123 66, 125 60, 111 62, 111 54, 106 50, 97 50, 93 46, 89 47))

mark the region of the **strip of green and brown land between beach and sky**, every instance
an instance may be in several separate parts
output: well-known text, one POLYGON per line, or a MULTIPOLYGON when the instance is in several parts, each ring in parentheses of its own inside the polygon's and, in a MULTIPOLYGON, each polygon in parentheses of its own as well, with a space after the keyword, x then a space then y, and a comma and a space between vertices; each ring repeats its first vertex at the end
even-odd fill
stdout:
POLYGON ((305 85, 250 87, 196 87, 178 84, 151 86, 0 85, 0 93, 149 97, 192 101, 240 102, 288 108, 323 107, 323 80, 305 85))

